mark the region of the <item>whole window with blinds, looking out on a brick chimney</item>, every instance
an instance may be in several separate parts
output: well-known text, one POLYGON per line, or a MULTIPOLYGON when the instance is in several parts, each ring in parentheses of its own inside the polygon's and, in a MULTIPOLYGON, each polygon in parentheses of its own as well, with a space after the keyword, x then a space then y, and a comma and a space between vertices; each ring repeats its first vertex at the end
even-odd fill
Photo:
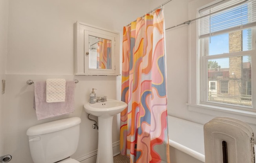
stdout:
POLYGON ((201 102, 252 108, 256 0, 218 4, 199 10, 201 102))

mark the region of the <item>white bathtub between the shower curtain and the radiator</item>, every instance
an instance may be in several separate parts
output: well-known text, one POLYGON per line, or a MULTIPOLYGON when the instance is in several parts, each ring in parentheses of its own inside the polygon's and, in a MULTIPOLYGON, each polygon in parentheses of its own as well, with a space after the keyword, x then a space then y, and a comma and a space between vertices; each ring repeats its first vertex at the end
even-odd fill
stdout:
POLYGON ((204 163, 203 125, 168 116, 172 163, 204 163))

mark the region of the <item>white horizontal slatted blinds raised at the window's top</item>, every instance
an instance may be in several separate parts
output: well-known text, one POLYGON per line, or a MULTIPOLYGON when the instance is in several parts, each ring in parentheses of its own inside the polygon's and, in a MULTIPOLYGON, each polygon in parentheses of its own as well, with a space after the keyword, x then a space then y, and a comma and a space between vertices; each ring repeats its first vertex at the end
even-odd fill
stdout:
POLYGON ((229 0, 218 6, 201 10, 199 17, 224 9, 200 19, 199 38, 256 26, 256 0, 247 0, 245 3, 241 3, 243 1, 229 0), (231 7, 233 5, 235 6, 231 7), (227 7, 231 8, 225 10, 227 7))

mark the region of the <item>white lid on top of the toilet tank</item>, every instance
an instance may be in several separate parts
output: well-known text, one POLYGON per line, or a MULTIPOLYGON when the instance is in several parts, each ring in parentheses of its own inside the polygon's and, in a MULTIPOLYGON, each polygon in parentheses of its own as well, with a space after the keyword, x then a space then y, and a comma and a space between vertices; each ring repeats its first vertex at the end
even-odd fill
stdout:
POLYGON ((56 132, 59 130, 68 129, 75 125, 79 125, 81 123, 81 119, 79 117, 66 118, 57 121, 51 121, 47 123, 43 123, 40 125, 32 126, 27 129, 27 136, 35 136, 42 135, 51 132, 56 132))

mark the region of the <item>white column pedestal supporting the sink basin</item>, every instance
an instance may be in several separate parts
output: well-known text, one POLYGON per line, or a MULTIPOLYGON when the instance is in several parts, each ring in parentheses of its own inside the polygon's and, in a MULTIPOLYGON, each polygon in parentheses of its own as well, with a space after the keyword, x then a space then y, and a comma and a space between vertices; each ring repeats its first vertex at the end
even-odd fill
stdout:
POLYGON ((98 117, 99 123, 99 140, 98 154, 96 163, 113 163, 112 148, 112 117, 98 117))

